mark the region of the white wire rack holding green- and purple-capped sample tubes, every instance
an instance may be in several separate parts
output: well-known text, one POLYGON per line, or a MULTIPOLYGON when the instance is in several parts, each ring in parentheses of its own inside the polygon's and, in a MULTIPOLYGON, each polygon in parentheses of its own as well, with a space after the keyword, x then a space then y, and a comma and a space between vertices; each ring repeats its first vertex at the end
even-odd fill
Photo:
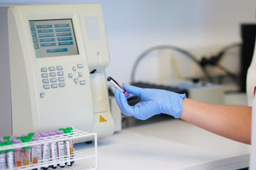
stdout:
MULTIPOLYGON (((94 138, 94 154, 89 155, 86 153, 81 153, 74 151, 70 155, 70 157, 56 157, 53 159, 44 159, 44 160, 38 160, 37 164, 30 164, 28 166, 20 166, 20 167, 14 167, 12 169, 36 169, 39 167, 45 167, 45 166, 51 166, 53 164, 60 164, 63 162, 72 162, 76 160, 81 160, 81 159, 94 159, 94 165, 93 167, 83 167, 83 169, 97 169, 97 133, 89 133, 89 132, 84 132, 84 131, 79 131, 77 129, 72 130, 72 132, 67 133, 67 134, 57 134, 55 136, 47 136, 47 137, 41 137, 40 140, 38 141, 30 141, 26 143, 19 143, 19 144, 14 144, 14 145, 5 145, 1 146, 1 150, 10 150, 10 149, 15 149, 15 148, 24 148, 26 146, 35 146, 35 145, 42 145, 45 143, 52 143, 52 142, 59 142, 59 141, 67 141, 70 139, 78 139, 78 138, 94 138)), ((72 168, 72 166, 65 166, 65 168, 61 168, 63 170, 72 168)), ((74 167, 76 168, 76 167, 74 167)))

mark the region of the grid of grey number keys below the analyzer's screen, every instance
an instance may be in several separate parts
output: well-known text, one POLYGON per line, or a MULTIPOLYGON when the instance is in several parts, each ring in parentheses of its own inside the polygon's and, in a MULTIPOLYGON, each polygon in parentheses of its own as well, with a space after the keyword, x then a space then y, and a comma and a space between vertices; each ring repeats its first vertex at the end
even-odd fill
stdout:
POLYGON ((65 87, 66 84, 62 66, 42 67, 40 70, 44 89, 57 89, 58 87, 65 87), (56 70, 58 71, 57 73, 56 70))

